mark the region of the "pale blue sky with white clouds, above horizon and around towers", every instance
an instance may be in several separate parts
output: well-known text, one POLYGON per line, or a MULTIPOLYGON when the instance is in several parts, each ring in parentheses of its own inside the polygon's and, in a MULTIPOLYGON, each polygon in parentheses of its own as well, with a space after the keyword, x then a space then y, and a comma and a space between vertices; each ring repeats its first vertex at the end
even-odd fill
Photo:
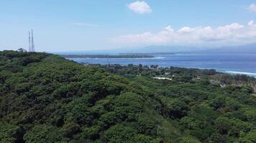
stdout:
POLYGON ((0 50, 256 43, 255 0, 0 0, 0 50))

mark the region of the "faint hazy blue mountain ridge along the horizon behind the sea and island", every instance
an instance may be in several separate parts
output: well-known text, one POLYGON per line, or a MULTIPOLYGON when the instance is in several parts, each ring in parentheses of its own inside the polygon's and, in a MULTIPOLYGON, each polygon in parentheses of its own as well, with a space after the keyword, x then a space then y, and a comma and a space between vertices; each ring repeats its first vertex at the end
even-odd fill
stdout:
POLYGON ((120 53, 256 53, 256 43, 244 44, 240 46, 219 46, 209 47, 204 46, 145 46, 142 48, 131 49, 106 49, 106 50, 90 50, 90 51, 56 51, 50 52, 54 54, 120 54, 120 53))

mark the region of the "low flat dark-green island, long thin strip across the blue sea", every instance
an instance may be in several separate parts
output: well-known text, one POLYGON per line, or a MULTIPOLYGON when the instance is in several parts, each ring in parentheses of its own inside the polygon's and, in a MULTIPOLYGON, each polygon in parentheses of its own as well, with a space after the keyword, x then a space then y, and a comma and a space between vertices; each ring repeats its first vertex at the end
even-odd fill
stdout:
POLYGON ((153 58, 155 56, 148 54, 122 54, 122 55, 109 55, 109 54, 67 54, 60 55, 65 58, 153 58))

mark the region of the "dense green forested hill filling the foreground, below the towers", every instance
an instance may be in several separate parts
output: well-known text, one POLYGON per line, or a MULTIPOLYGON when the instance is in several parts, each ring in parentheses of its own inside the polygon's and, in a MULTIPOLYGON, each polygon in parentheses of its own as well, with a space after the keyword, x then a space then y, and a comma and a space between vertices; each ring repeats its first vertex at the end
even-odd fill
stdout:
POLYGON ((256 142, 253 89, 219 87, 206 73, 126 77, 52 54, 1 51, 0 142, 256 142))

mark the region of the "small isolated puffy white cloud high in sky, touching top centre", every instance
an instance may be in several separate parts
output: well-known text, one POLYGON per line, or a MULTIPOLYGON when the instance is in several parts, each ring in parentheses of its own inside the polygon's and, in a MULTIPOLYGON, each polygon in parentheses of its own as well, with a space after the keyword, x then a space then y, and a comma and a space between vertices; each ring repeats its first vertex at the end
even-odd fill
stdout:
POLYGON ((127 6, 137 14, 150 14, 152 12, 152 9, 145 1, 135 1, 127 6))

